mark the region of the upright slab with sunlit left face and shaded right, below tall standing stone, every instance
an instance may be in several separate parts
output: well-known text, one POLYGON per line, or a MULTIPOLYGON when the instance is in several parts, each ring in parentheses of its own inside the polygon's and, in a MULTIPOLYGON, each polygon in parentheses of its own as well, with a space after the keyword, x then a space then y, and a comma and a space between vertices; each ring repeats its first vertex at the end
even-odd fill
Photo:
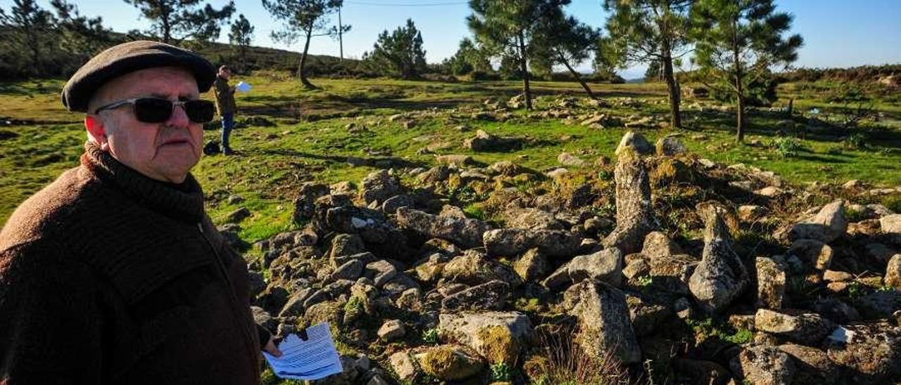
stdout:
POLYGON ((564 292, 563 307, 578 318, 576 343, 586 354, 601 359, 609 353, 621 363, 641 362, 623 291, 602 282, 582 281, 564 292))

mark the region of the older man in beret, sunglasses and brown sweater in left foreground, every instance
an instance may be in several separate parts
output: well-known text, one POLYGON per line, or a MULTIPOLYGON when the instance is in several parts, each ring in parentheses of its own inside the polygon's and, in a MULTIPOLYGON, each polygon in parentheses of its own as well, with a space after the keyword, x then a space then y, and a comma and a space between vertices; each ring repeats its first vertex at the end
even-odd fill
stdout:
POLYGON ((132 41, 68 80, 81 164, 0 232, 0 383, 259 383, 260 349, 279 353, 189 173, 214 76, 193 52, 132 41))

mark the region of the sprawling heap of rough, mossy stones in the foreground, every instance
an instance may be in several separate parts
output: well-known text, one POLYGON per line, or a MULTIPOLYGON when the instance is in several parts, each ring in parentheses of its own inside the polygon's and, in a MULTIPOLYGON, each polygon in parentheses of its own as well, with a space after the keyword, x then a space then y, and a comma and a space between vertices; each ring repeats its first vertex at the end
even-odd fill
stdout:
POLYGON ((901 381, 901 214, 873 203, 901 190, 791 185, 678 136, 615 154, 304 184, 301 229, 248 261, 258 321, 331 324, 344 372, 319 383, 901 381))

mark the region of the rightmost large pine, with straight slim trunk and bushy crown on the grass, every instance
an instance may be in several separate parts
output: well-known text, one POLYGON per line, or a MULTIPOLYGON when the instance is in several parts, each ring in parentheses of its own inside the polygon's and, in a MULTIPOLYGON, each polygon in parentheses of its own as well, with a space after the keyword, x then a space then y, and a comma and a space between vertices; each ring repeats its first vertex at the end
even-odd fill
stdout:
POLYGON ((744 139, 744 108, 749 85, 768 80, 774 67, 787 67, 804 44, 798 34, 783 37, 792 16, 777 13, 772 0, 698 0, 692 11, 694 63, 714 90, 734 95, 735 137, 744 139))

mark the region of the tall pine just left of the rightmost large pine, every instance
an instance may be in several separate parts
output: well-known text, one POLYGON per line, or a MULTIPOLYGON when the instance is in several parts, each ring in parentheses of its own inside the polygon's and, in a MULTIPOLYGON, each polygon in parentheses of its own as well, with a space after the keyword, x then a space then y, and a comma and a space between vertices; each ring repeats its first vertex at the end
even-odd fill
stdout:
POLYGON ((607 30, 618 62, 659 61, 669 93, 669 123, 682 128, 679 87, 673 62, 686 53, 688 12, 693 0, 605 0, 613 14, 607 30))

